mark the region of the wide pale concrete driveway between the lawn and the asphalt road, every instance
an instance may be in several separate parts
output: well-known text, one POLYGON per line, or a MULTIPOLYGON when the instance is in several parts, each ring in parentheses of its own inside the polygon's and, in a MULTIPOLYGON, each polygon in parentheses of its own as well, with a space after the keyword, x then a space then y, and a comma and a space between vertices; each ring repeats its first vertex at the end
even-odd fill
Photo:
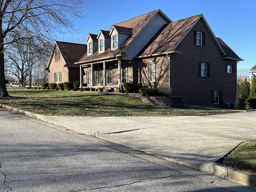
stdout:
POLYGON ((256 187, 256 175, 214 163, 256 139, 256 111, 211 116, 60 117, 26 115, 256 187))

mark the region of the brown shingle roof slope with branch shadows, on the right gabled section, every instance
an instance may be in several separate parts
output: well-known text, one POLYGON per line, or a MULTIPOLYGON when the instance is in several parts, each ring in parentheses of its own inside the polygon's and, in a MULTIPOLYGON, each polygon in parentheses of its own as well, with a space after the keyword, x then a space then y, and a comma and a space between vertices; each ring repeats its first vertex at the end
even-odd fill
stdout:
POLYGON ((155 36, 146 44, 137 56, 151 55, 163 52, 169 52, 180 42, 182 37, 196 22, 200 15, 178 20, 165 24, 155 34, 155 36))

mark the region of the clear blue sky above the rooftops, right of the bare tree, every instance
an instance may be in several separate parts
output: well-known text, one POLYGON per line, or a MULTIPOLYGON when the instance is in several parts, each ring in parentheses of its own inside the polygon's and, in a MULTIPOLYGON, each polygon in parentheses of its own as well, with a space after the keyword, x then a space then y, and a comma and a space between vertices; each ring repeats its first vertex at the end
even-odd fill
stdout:
POLYGON ((222 38, 244 59, 238 69, 256 65, 256 1, 254 0, 88 0, 85 18, 76 20, 80 32, 60 36, 64 41, 85 43, 88 33, 98 34, 113 24, 160 9, 172 21, 203 14, 216 37, 222 38))

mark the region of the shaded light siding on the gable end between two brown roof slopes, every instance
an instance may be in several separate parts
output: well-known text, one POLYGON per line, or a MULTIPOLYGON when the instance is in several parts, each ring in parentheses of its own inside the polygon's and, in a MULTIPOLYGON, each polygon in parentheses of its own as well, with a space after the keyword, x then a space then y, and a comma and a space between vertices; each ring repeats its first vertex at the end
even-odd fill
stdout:
POLYGON ((138 36, 134 39, 132 44, 130 44, 124 53, 128 55, 123 58, 125 60, 132 60, 140 50, 146 45, 146 43, 160 30, 160 28, 168 23, 161 15, 159 15, 158 19, 152 18, 152 20, 148 23, 148 25, 138 34, 138 36))

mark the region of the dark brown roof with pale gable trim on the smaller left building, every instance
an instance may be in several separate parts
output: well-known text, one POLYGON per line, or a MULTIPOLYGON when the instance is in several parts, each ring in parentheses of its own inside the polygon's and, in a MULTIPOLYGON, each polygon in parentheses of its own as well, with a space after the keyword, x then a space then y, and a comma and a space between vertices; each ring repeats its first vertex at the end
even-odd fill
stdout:
POLYGON ((77 62, 85 53, 87 53, 86 44, 56 41, 54 42, 52 53, 45 70, 49 70, 50 63, 57 46, 65 61, 64 67, 78 67, 74 63, 77 62))

